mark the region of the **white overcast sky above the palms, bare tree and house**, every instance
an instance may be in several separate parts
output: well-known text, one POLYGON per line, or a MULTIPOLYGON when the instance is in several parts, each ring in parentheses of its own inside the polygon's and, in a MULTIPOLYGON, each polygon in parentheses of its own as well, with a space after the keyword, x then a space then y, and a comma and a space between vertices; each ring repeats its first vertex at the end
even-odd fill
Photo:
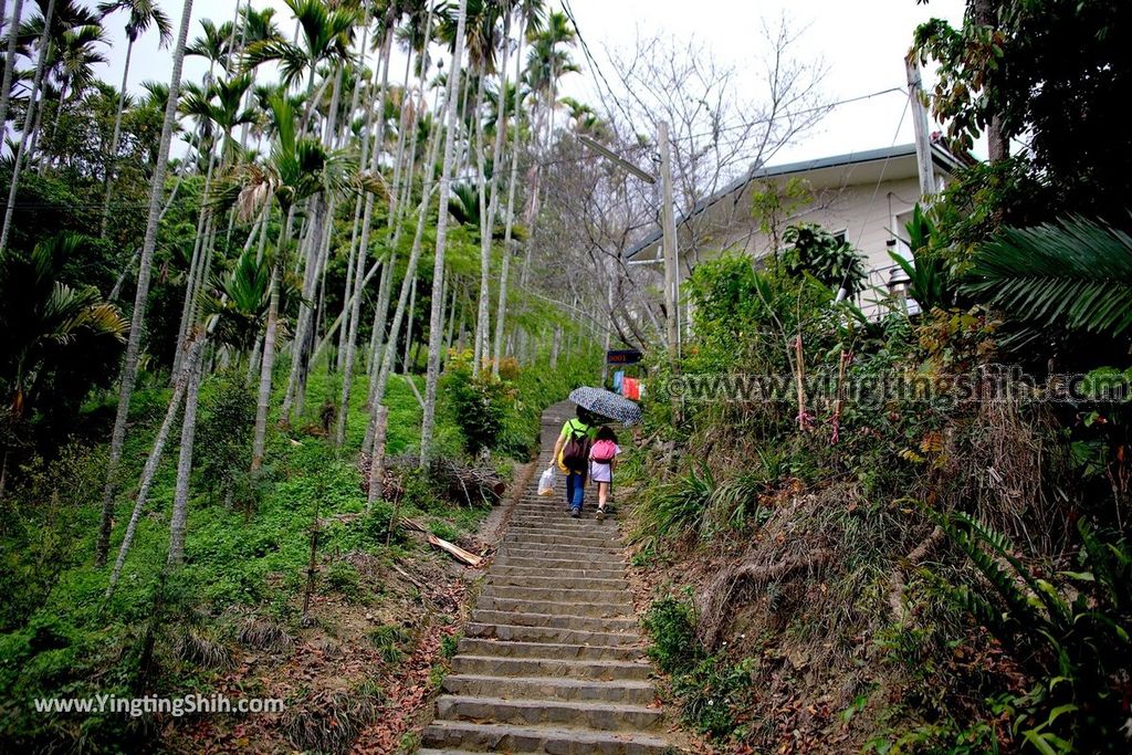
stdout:
MULTIPOLYGON (((80 1, 95 5, 94 0, 80 1)), ((6 0, 5 16, 10 15, 11 5, 12 0, 6 0)), ((25 15, 32 5, 25 2, 25 15)), ((162 0, 161 5, 172 17, 175 34, 182 6, 179 0, 162 0)), ((551 5, 557 7, 554 0, 551 5)), ((710 46, 721 62, 731 63, 740 71, 751 69, 757 59, 763 19, 773 23, 784 12, 792 27, 805 28, 795 54, 824 60, 829 75, 823 81, 823 94, 829 101, 839 101, 892 87, 903 88, 903 55, 911 43, 912 31, 932 16, 958 22, 964 0, 932 0, 928 6, 917 5, 916 0, 698 0, 695 3, 687 0, 569 0, 569 5, 602 67, 611 65, 604 57, 607 49, 629 48, 638 35, 660 34, 678 38, 692 35, 710 46)), ((252 6, 277 8, 284 33, 290 35, 293 26, 283 20, 289 18, 283 2, 252 0, 252 6)), ((218 24, 230 20, 233 11, 233 0, 196 0, 189 38, 199 34, 199 19, 212 18, 218 24)), ((121 80, 126 52, 122 20, 119 14, 106 23, 112 40, 108 55, 111 62, 102 76, 115 86, 121 80)), ((575 59, 585 70, 564 83, 564 94, 597 102, 598 84, 581 50, 576 51, 575 59)), ((158 50, 155 36, 147 34, 135 45, 130 88, 137 91, 146 79, 168 81, 170 68, 169 51, 158 50)), ((199 79, 205 63, 199 58, 190 58, 185 70, 186 78, 199 79)), ((760 97, 754 76, 741 96, 760 97)), ((911 143, 911 118, 906 114, 900 125, 906 103, 907 96, 893 93, 837 108, 815 132, 777 155, 772 162, 911 143)))

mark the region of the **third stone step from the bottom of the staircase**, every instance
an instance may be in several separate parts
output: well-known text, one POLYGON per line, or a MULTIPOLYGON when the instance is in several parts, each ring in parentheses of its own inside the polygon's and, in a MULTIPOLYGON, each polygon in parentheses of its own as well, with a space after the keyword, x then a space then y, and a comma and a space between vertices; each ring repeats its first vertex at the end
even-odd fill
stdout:
MULTIPOLYGON (((472 674, 449 674, 444 689, 454 695, 504 700, 552 700, 649 705, 657 698, 652 683, 642 680, 593 681, 561 677, 512 679, 472 674)), ((444 717, 452 718, 452 717, 444 717)))

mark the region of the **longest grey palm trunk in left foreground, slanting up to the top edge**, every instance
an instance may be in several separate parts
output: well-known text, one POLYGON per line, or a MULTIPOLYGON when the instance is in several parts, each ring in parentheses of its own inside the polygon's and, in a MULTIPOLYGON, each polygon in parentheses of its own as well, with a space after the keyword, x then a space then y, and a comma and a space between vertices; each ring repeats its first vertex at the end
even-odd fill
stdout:
MULTIPOLYGON (((54 6, 54 0, 51 0, 51 6, 54 6)), ((134 381, 137 379, 138 352, 142 348, 142 326, 145 321, 146 301, 149 297, 153 252, 157 246, 157 217, 161 212, 161 198, 165 187, 165 173, 169 168, 169 148, 173 140, 173 123, 177 121, 177 102, 178 92, 181 86, 181 69, 185 65, 185 45, 188 41, 191 22, 192 0, 185 0, 185 6, 181 10, 181 28, 177 36, 177 46, 173 49, 173 70, 169 80, 169 101, 165 103, 165 120, 161 127, 161 146, 157 148, 157 164, 154 165, 153 183, 149 190, 149 216, 146 221, 145 241, 142 244, 138 285, 137 292, 134 295, 134 315, 130 319, 130 336, 126 344, 126 357, 122 360, 118 413, 114 418, 114 429, 110 439, 110 458, 106 462, 106 486, 102 497, 102 522, 95 552, 100 565, 105 561, 106 551, 110 549, 110 530, 113 523, 118 463, 122 457, 122 444, 126 440, 126 419, 129 415, 130 398, 134 395, 134 381)))

